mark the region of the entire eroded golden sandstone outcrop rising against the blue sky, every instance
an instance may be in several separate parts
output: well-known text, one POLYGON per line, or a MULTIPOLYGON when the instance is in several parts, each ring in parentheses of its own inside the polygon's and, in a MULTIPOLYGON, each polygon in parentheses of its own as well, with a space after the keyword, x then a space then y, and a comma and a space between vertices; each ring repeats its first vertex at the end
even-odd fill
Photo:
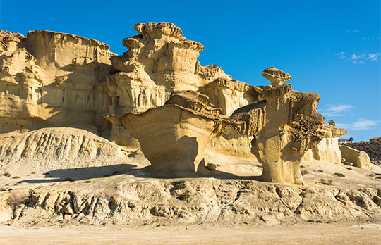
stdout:
POLYGON ((0 163, 33 165, 43 142, 57 152, 50 159, 57 163, 71 151, 103 158, 141 147, 152 173, 169 176, 212 175, 205 151, 258 160, 263 180, 289 184, 303 184, 302 161, 341 163, 343 151, 359 168, 368 165, 363 153, 339 149, 346 131, 333 121, 325 125, 318 94, 283 84, 291 75, 270 67, 262 75, 271 85, 250 86, 217 65, 200 65, 204 46, 174 24, 134 28, 138 34, 123 39, 122 56, 73 34, 0 32, 0 163), (73 142, 82 132, 72 130, 71 137, 59 127, 94 135, 78 148, 73 142), (18 140, 10 143, 13 134, 18 140), (107 145, 106 155, 95 149, 99 144, 107 145))

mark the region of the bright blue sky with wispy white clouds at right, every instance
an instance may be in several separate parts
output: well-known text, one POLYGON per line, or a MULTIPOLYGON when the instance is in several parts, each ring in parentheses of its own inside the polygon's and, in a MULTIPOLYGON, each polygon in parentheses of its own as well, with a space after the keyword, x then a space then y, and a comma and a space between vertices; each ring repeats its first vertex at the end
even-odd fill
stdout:
POLYGON ((264 68, 320 94, 319 111, 356 141, 381 136, 380 0, 1 1, 0 29, 54 30, 97 39, 122 54, 138 22, 167 21, 201 42, 217 63, 251 85, 264 68))

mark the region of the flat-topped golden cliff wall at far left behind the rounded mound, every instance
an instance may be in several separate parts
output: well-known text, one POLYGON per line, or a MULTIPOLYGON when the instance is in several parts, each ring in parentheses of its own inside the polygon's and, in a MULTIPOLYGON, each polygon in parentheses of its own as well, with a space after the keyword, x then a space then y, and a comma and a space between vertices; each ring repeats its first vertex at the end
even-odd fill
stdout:
POLYGON ((104 127, 109 46, 72 34, 0 32, 0 132, 52 125, 104 127))

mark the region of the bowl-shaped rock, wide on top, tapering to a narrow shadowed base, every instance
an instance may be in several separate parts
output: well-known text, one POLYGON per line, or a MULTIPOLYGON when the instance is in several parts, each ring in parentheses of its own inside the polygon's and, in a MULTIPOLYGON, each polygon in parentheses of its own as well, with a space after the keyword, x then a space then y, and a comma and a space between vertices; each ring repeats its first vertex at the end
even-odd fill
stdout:
POLYGON ((152 172, 188 176, 198 171, 207 143, 224 130, 229 118, 199 92, 175 92, 169 100, 144 113, 119 120, 138 139, 152 172))

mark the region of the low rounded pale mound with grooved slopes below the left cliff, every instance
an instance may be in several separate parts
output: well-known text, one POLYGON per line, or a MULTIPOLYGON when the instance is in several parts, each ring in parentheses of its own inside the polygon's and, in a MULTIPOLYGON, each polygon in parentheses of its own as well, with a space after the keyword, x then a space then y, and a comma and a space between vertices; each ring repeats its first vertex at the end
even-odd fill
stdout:
MULTIPOLYGON (((72 178, 83 178, 93 174, 92 168, 110 165, 117 168, 128 163, 126 155, 120 146, 107 139, 70 127, 0 134, 0 171, 19 175, 54 170, 50 176, 60 177, 67 174, 63 169, 71 169, 68 171, 72 178)), ((106 174, 107 171, 100 172, 98 176, 106 174)))

